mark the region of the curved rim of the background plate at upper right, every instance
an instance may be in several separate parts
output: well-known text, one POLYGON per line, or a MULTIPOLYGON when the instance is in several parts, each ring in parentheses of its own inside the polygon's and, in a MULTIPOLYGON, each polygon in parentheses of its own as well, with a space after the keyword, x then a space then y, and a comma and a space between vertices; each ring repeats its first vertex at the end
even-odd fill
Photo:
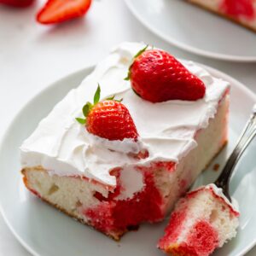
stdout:
POLYGON ((145 26, 148 31, 153 32, 156 36, 166 41, 168 44, 172 44, 173 46, 177 47, 178 49, 183 49, 189 53, 204 56, 214 60, 220 61, 233 61, 233 62, 246 62, 246 63, 255 63, 256 62, 256 55, 255 56, 238 56, 238 55, 225 55, 225 54, 218 54, 212 51, 208 51, 205 49, 198 49, 194 46, 190 46, 189 44, 184 44, 178 41, 175 38, 170 38, 166 36, 164 32, 160 32, 158 29, 149 26, 148 22, 143 19, 141 15, 138 14, 137 10, 134 8, 132 4, 133 0, 125 0, 126 6, 130 9, 131 14, 134 15, 137 20, 139 20, 143 26, 145 26))

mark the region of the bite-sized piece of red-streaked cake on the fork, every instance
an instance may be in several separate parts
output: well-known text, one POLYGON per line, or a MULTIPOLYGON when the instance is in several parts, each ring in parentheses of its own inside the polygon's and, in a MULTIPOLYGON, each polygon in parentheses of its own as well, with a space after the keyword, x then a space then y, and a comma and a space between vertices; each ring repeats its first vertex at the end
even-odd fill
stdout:
POLYGON ((207 256, 236 236, 239 212, 215 184, 177 202, 158 247, 171 255, 207 256))

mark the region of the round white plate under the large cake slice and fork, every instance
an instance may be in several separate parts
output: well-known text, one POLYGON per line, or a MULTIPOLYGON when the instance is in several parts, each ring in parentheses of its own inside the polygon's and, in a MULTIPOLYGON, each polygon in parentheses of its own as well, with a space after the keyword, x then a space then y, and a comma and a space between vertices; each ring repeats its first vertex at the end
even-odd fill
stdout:
MULTIPOLYGON (((28 102, 9 126, 0 147, 0 205, 3 218, 22 245, 35 255, 163 255, 155 245, 163 235, 167 220, 161 224, 143 224, 137 232, 131 231, 121 241, 116 242, 38 200, 25 189, 21 181, 20 144, 36 128, 38 122, 49 113, 55 103, 59 102, 68 90, 78 86, 91 70, 92 67, 86 68, 51 84, 28 102)), ((256 96, 224 73, 212 68, 208 70, 232 84, 230 143, 229 147, 214 160, 214 163, 223 166, 227 152, 234 145, 253 103, 256 102, 256 96)), ((247 149, 232 178, 231 192, 241 206, 241 226, 238 236, 218 250, 215 256, 242 255, 256 243, 255 151, 256 143, 254 142, 247 149)), ((219 172, 213 172, 210 166, 209 170, 198 178, 197 184, 213 181, 218 174, 219 172)))

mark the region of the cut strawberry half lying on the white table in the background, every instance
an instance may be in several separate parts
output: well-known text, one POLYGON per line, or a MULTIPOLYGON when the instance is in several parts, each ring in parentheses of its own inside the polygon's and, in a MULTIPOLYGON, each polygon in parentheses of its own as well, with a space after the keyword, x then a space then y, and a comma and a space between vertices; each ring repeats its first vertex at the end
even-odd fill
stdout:
POLYGON ((90 4, 91 0, 48 0, 37 20, 42 24, 55 24, 79 18, 87 13, 90 4))

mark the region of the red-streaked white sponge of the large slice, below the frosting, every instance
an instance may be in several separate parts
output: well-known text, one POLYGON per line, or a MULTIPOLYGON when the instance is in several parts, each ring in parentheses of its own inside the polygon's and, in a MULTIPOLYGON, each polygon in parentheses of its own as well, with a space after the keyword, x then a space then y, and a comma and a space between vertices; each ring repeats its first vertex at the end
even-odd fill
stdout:
POLYGON ((207 128, 195 132, 196 147, 178 163, 154 161, 149 166, 115 168, 113 188, 81 176, 58 176, 42 166, 26 167, 26 187, 44 201, 84 224, 118 240, 142 222, 158 222, 189 188, 227 141, 229 95, 218 102, 207 128))

